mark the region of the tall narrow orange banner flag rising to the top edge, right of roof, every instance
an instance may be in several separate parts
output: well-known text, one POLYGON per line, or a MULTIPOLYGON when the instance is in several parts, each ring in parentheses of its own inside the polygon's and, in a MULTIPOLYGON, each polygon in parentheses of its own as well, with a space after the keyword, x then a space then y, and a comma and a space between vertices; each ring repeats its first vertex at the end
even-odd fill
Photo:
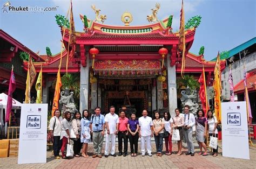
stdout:
POLYGON ((178 44, 178 57, 182 53, 181 59, 181 77, 184 75, 185 65, 186 65, 186 42, 185 42, 185 13, 183 8, 183 1, 180 10, 180 28, 179 28, 179 44, 178 44))

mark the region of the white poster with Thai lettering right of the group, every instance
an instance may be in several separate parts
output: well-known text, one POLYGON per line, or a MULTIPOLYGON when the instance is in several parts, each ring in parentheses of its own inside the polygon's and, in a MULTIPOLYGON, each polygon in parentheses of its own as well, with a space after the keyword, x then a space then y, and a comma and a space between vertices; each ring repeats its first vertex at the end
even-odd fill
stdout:
POLYGON ((223 156, 250 159, 246 102, 221 103, 223 156))

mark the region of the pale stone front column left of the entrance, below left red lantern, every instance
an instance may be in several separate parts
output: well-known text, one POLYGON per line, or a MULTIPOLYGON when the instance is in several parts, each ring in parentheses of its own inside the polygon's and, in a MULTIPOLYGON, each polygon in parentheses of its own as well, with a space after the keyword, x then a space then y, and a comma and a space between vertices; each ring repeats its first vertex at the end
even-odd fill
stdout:
POLYGON ((86 53, 86 67, 80 65, 80 109, 88 109, 89 98, 89 54, 86 53))

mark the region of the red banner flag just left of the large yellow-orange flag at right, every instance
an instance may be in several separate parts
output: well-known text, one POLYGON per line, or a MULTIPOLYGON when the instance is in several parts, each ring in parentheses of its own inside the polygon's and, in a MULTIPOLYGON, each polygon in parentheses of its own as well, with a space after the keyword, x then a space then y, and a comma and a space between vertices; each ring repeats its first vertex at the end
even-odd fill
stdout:
POLYGON ((203 72, 198 80, 200 83, 200 89, 199 89, 199 96, 202 103, 202 109, 205 112, 205 117, 207 117, 207 111, 210 109, 208 105, 207 100, 207 92, 206 92, 206 82, 205 82, 205 76, 204 76, 204 68, 203 72))

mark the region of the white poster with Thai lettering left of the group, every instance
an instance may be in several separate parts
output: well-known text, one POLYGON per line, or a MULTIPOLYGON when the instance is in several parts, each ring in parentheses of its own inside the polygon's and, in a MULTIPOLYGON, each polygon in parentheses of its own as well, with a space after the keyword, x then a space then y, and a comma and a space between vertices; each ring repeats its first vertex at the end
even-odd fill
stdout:
POLYGON ((22 104, 18 164, 46 163, 48 104, 22 104))

